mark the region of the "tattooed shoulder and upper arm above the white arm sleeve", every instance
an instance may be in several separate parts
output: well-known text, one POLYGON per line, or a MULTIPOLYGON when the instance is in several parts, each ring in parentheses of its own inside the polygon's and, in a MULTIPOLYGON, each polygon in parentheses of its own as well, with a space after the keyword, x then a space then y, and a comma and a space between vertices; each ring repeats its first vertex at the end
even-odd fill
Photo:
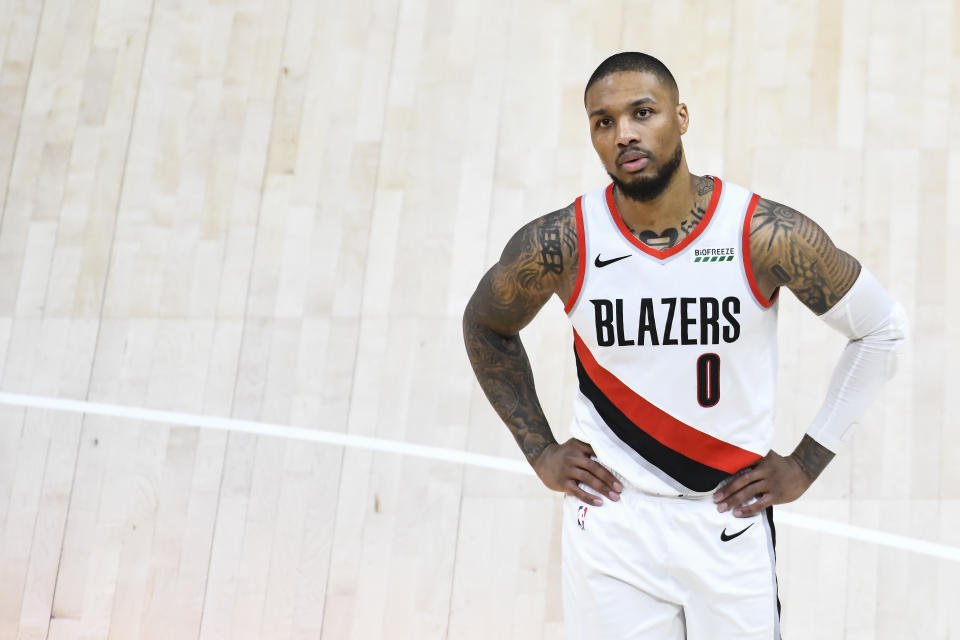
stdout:
POLYGON ((860 263, 838 249, 820 226, 799 211, 760 198, 750 221, 750 262, 765 295, 784 285, 816 314, 850 289, 860 263))

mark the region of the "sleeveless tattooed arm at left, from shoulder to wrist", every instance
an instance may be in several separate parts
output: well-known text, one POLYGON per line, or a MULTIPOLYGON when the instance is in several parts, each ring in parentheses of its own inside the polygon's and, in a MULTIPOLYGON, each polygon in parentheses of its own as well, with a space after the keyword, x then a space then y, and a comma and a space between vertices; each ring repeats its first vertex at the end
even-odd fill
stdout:
POLYGON ((537 398, 523 328, 576 277, 573 207, 518 231, 483 277, 463 315, 467 355, 480 386, 531 462, 556 442, 537 398))

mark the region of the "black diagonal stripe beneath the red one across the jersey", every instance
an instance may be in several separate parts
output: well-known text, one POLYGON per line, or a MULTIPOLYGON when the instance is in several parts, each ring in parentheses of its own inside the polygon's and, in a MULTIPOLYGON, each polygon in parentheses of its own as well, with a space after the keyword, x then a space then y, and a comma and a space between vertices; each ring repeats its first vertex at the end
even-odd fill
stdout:
POLYGON ((714 469, 671 449, 634 424, 610 402, 607 396, 603 395, 599 387, 590 379, 576 351, 574 351, 574 357, 577 359, 580 392, 590 400, 610 430, 648 462, 691 491, 712 491, 730 475, 726 471, 714 469))

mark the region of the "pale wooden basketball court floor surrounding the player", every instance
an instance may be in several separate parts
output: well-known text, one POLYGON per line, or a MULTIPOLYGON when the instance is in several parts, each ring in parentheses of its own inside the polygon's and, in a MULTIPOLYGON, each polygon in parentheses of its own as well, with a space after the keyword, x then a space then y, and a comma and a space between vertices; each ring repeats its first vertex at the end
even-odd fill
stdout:
MULTIPOLYGON (((459 316, 606 182, 581 92, 623 49, 677 76, 693 171, 911 317, 777 511, 785 637, 960 637, 960 2, 5 0, 0 638, 562 637, 560 498, 459 316)), ((780 314, 784 452, 843 342, 780 314)), ((565 438, 561 305, 523 335, 565 438)))

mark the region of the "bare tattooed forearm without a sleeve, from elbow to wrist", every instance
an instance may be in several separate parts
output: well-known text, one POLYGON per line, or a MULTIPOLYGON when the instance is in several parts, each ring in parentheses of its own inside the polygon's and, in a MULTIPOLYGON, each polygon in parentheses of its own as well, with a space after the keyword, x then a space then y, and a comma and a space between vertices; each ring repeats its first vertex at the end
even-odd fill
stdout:
POLYGON ((468 306, 463 339, 487 400, 506 423, 527 460, 556 442, 540 407, 530 361, 520 336, 502 336, 477 321, 468 306))

